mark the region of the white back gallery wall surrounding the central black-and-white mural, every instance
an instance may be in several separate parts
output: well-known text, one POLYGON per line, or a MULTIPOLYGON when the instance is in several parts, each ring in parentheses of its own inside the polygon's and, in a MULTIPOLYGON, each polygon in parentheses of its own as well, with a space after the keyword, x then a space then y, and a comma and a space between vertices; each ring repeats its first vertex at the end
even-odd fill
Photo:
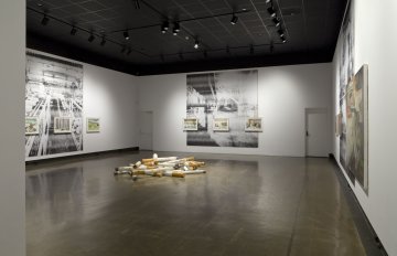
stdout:
POLYGON ((266 156, 305 156, 305 108, 326 108, 330 129, 323 141, 332 152, 332 65, 309 64, 258 70, 258 148, 186 146, 186 74, 139 77, 139 111, 153 113, 153 149, 266 156))

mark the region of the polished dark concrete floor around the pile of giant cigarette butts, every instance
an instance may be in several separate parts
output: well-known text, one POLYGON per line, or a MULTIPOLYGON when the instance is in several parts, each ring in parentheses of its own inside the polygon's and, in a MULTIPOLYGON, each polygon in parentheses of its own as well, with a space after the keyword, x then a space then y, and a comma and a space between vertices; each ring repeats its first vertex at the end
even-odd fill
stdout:
POLYGON ((149 156, 29 164, 28 256, 367 255, 329 159, 201 153, 206 174, 114 177, 149 156))

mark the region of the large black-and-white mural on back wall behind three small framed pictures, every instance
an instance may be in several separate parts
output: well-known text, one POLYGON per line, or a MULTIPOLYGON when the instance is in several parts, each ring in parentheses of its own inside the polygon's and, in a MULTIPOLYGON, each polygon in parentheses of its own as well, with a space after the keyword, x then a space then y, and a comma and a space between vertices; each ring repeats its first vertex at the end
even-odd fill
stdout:
POLYGON ((192 74, 186 83, 186 116, 198 120, 187 146, 258 148, 258 135, 245 132, 247 118, 258 115, 258 71, 192 74), (212 129, 219 117, 228 119, 227 132, 212 129))

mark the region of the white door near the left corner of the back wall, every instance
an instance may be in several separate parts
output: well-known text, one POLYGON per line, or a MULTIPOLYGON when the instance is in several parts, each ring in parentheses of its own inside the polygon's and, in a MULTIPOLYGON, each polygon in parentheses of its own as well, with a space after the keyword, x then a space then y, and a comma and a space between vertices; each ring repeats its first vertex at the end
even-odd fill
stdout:
POLYGON ((139 114, 139 149, 153 150, 153 113, 139 114))

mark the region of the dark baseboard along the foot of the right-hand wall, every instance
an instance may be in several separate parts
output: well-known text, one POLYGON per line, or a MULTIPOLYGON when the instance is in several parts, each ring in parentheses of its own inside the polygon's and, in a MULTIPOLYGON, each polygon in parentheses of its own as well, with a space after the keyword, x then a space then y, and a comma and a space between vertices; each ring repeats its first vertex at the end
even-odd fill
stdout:
POLYGON ((360 204, 360 201, 355 193, 353 192, 352 188, 348 184, 348 181, 346 180, 343 170, 337 164, 337 161, 335 159, 335 156, 333 153, 329 154, 330 160, 335 164, 337 168, 336 175, 342 181, 341 183, 344 184, 342 188, 345 189, 347 201, 351 201, 351 203, 354 203, 357 205, 357 207, 351 207, 353 211, 353 220, 357 226, 360 237, 362 238, 362 242, 364 244, 365 250, 368 255, 382 255, 387 256, 387 252, 385 247, 383 246, 379 237, 376 234, 376 231, 374 230, 373 225, 369 222, 368 216, 364 212, 364 209, 360 204), (350 195, 350 196, 348 196, 350 195), (372 237, 365 236, 365 234, 371 234, 372 237))

